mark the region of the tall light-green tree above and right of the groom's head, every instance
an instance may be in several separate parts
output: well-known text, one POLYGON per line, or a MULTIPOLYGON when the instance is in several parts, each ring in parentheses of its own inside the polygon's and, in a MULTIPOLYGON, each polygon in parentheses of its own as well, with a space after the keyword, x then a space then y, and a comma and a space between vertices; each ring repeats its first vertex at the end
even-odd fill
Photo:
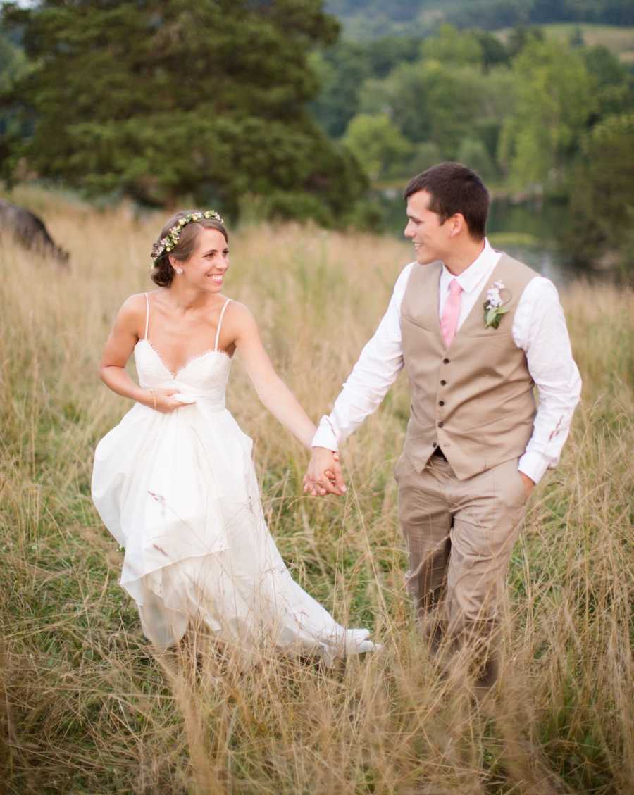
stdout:
POLYGON ((554 41, 530 41, 513 76, 515 110, 504 122, 500 162, 519 187, 561 187, 595 107, 595 82, 579 51, 554 41))

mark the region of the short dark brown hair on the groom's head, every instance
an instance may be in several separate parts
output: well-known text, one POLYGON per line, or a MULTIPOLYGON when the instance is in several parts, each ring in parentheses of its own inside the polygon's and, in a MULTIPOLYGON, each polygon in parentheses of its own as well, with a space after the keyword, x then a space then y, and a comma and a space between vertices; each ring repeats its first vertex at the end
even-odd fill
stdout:
POLYGON ((457 212, 464 216, 469 236, 484 238, 488 216, 488 190, 480 177, 460 163, 439 163, 414 176, 403 193, 407 200, 412 193, 430 193, 430 210, 445 223, 457 212))

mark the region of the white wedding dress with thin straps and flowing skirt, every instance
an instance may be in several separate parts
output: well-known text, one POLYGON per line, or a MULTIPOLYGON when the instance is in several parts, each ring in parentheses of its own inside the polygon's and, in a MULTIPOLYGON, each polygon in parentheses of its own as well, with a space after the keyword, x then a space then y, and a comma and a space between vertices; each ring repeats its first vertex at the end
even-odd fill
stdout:
POLYGON ((259 641, 336 657, 379 648, 368 630, 345 629, 294 582, 263 516, 251 439, 225 408, 231 359, 216 343, 169 372, 147 338, 134 347, 138 381, 191 401, 163 414, 139 403, 99 441, 92 499, 125 547, 120 584, 159 648, 190 619, 247 653, 259 641))

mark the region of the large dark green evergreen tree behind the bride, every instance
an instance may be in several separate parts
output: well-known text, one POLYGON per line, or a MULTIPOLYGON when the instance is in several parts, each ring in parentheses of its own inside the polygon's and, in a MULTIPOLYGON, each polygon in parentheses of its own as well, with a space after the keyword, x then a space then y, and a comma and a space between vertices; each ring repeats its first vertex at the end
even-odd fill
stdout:
POLYGON ((333 42, 321 0, 44 0, 9 6, 35 68, 14 86, 36 115, 15 146, 42 176, 171 204, 306 192, 340 217, 364 175, 318 130, 307 64, 333 42))

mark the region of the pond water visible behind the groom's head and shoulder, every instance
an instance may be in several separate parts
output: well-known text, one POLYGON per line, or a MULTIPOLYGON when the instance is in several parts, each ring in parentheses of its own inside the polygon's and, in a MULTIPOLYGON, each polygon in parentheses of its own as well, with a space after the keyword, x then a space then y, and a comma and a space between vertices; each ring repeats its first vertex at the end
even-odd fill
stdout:
MULTIPOLYGON (((406 216, 400 192, 385 190, 378 198, 387 231, 402 237, 406 216)), ((564 286, 582 275, 601 277, 601 272, 580 266, 574 253, 563 250, 558 242, 558 235, 570 223, 568 213, 565 204, 554 202, 512 204, 493 200, 487 235, 494 248, 526 262, 555 285, 564 286)))

